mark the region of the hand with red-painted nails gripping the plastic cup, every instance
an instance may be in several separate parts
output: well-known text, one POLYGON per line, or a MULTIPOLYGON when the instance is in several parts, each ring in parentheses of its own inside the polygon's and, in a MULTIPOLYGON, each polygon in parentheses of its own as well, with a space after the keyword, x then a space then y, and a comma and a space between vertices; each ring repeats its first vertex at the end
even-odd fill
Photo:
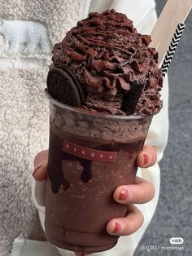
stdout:
MULTIPOLYGON (((43 181, 47 175, 48 150, 37 154, 34 160, 35 170, 33 178, 36 181, 43 181)), ((137 156, 137 166, 146 168, 155 165, 155 148, 145 146, 137 156)), ((120 204, 128 205, 129 214, 125 218, 111 219, 107 223, 107 232, 114 236, 128 236, 137 231, 143 223, 143 215, 133 204, 144 204, 151 201, 155 193, 152 183, 145 179, 136 177, 135 183, 131 185, 122 185, 116 188, 114 200, 120 204)), ((84 253, 75 253, 76 256, 84 256, 84 253)))

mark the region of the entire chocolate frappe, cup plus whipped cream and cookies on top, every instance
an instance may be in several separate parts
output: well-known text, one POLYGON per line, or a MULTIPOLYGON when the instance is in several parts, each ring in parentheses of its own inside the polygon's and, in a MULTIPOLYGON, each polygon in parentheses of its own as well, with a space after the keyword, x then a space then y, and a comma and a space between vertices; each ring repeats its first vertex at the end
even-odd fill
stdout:
POLYGON ((110 249, 106 225, 127 207, 113 192, 134 183, 163 78, 150 36, 126 15, 91 13, 53 49, 47 77, 50 151, 46 238, 63 249, 110 249))

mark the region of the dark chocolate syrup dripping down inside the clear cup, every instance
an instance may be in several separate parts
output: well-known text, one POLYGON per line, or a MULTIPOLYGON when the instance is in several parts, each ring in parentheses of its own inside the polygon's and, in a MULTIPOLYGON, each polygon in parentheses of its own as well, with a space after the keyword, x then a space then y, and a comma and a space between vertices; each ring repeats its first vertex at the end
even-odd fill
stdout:
MULTIPOLYGON (((103 151, 116 151, 116 152, 120 152, 120 150, 123 150, 123 151, 129 150, 129 154, 132 154, 132 153, 135 154, 135 152, 141 151, 142 147, 143 147, 143 141, 139 140, 135 143, 129 143, 129 144, 116 143, 116 145, 113 145, 113 146, 103 145, 103 146, 98 146, 94 149, 103 150, 103 151)), ((65 173, 64 165, 62 166, 62 162, 64 161, 76 161, 76 162, 78 161, 81 164, 81 166, 83 167, 83 170, 81 172, 81 181, 83 183, 88 183, 89 180, 92 178, 93 176, 92 170, 91 170, 92 161, 83 159, 81 157, 75 157, 69 154, 68 152, 64 152, 61 146, 61 143, 59 143, 58 137, 55 136, 53 133, 50 134, 49 153, 50 153, 50 157, 48 162, 48 177, 50 179, 52 192, 58 193, 61 185, 63 185, 64 191, 70 188, 70 183, 64 175, 65 173)), ((108 168, 111 168, 110 165, 111 164, 107 164, 108 168)), ((137 169, 137 166, 134 167, 134 169, 135 168, 137 169)))

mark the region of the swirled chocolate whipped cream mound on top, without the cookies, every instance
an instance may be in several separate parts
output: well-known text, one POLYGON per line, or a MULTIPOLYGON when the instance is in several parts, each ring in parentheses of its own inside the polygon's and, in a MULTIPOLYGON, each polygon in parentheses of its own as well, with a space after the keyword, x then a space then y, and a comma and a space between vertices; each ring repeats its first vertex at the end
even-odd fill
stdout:
POLYGON ((137 33, 126 15, 95 12, 55 45, 52 60, 55 66, 69 68, 80 82, 86 98, 83 108, 124 115, 133 86, 142 82, 133 114, 150 115, 162 107, 163 84, 158 53, 148 47, 150 42, 150 36, 137 33))

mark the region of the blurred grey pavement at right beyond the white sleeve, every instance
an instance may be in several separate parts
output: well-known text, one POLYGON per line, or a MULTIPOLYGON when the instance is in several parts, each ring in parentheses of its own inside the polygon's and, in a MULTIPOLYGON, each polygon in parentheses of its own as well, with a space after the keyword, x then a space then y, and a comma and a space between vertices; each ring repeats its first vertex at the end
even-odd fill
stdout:
MULTIPOLYGON (((156 0, 158 15, 165 2, 156 0)), ((168 69, 169 139, 160 162, 159 204, 134 256, 192 255, 192 12, 185 24, 181 42, 168 69), (184 239, 182 245, 177 245, 184 250, 159 249, 171 246, 169 240, 173 236, 184 239), (151 249, 151 246, 159 247, 151 249)))

